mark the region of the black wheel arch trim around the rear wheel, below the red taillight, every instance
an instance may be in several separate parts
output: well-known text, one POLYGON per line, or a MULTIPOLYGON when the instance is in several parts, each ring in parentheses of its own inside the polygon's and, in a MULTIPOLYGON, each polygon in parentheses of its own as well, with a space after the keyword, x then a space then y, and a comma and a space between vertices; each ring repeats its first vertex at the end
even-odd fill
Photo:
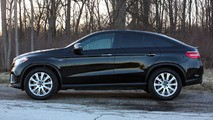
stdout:
POLYGON ((155 64, 152 67, 150 67, 149 71, 147 72, 147 76, 146 76, 147 84, 149 82, 149 78, 150 78, 151 74, 154 71, 156 71, 158 69, 162 69, 162 68, 169 68, 169 69, 174 70, 180 76, 182 84, 183 85, 186 84, 186 73, 185 73, 184 69, 176 63, 159 63, 159 64, 155 64))

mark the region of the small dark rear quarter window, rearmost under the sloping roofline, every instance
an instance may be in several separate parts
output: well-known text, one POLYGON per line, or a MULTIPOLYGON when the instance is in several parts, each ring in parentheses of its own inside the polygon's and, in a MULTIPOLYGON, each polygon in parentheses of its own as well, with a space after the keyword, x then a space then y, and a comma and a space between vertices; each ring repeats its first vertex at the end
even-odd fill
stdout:
POLYGON ((160 37, 160 36, 152 36, 151 37, 157 47, 173 47, 175 46, 168 38, 160 37))

